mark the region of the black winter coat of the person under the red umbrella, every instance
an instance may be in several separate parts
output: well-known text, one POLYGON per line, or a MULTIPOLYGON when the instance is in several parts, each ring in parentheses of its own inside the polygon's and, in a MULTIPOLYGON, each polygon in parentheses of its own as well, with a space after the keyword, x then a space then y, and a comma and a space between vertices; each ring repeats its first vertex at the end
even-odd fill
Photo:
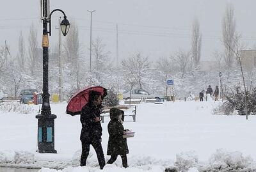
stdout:
POLYGON ((100 108, 88 103, 82 108, 81 112, 82 130, 80 140, 92 141, 93 139, 101 139, 102 127, 100 121, 95 122, 95 118, 100 117, 100 108))

